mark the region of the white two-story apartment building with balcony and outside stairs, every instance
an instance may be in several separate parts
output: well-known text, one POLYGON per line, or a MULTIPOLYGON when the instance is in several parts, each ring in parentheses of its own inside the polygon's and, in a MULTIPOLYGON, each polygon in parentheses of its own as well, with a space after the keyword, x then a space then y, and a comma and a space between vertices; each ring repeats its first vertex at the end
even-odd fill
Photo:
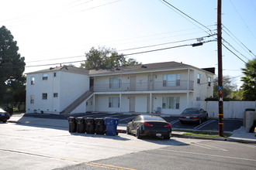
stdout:
POLYGON ((178 115, 213 96, 214 68, 151 63, 109 70, 62 66, 27 73, 26 112, 136 112, 178 115))

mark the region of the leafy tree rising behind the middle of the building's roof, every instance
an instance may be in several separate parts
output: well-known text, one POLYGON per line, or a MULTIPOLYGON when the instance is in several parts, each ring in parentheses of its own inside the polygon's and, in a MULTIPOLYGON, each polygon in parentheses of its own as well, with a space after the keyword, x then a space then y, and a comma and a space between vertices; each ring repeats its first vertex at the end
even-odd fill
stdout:
POLYGON ((135 66, 138 63, 136 59, 126 59, 126 56, 116 52, 116 49, 92 47, 88 53, 85 53, 86 61, 81 63, 81 68, 87 70, 111 69, 119 66, 135 66))

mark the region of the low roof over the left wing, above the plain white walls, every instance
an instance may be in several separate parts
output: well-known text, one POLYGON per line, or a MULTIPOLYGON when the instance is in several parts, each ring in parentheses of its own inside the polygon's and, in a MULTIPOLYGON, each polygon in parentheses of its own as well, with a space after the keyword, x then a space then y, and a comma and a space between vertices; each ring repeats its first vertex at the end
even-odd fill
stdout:
POLYGON ((32 74, 32 73, 49 73, 49 72, 56 72, 56 71, 64 71, 64 72, 70 72, 70 73, 80 73, 80 74, 87 74, 88 70, 81 69, 75 66, 56 66, 56 67, 50 67, 50 69, 46 70, 39 70, 31 73, 26 74, 32 74))

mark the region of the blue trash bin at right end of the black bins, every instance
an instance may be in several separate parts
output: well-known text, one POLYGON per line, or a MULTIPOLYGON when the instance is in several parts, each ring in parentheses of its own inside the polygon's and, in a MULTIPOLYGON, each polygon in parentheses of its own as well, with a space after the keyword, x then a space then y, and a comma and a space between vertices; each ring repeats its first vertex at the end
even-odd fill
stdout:
POLYGON ((106 124, 106 135, 107 136, 116 136, 118 133, 116 132, 117 124, 119 119, 106 117, 104 119, 104 123, 106 124))

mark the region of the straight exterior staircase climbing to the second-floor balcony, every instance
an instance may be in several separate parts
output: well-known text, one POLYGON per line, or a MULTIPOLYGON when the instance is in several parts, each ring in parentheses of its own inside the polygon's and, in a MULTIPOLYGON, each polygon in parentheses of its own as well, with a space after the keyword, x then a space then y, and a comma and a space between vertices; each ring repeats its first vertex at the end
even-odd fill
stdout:
POLYGON ((78 107, 81 103, 83 103, 88 97, 91 97, 93 94, 93 88, 90 88, 85 93, 83 93, 77 100, 74 100, 72 104, 64 108, 60 114, 71 114, 71 112, 78 107))

